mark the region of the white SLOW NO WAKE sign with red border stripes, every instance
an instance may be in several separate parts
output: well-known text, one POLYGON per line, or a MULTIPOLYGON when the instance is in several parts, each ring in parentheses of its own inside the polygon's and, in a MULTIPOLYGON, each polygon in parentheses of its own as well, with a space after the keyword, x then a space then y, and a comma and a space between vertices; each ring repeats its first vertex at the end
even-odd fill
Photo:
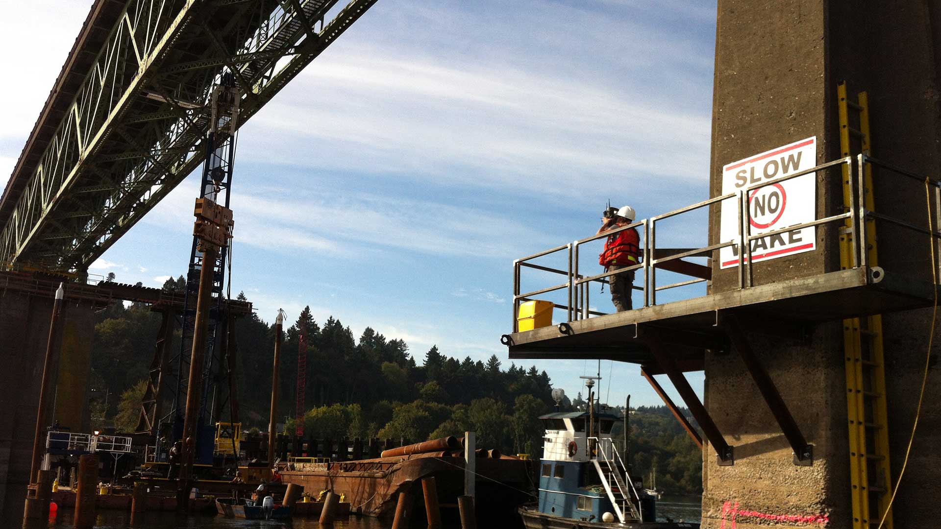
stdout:
MULTIPOLYGON (((774 180, 817 165, 817 137, 808 137, 789 145, 761 152, 722 168, 722 194, 735 193, 753 184, 774 180)), ((758 187, 748 192, 751 234, 780 230, 817 219, 816 173, 807 173, 788 181, 758 187)), ((752 262, 768 261, 817 249, 813 226, 794 232, 777 233, 751 243, 752 262)), ((723 200, 719 217, 719 240, 736 241, 734 247, 719 250, 720 265, 739 264, 739 204, 723 200)), ((745 254, 747 259, 748 254, 745 254)))

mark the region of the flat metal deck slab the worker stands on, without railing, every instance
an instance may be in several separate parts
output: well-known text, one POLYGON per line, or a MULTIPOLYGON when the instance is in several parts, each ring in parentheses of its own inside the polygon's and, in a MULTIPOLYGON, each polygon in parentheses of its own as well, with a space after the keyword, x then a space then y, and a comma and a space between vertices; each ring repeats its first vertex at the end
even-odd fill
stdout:
POLYGON ((695 297, 606 314, 559 326, 510 334, 511 359, 602 359, 654 364, 642 339, 644 329, 659 335, 684 370, 701 369, 705 351, 727 349, 717 327, 723 314, 735 314, 746 329, 796 337, 817 323, 872 313, 931 306, 931 281, 893 275, 882 268, 853 268, 820 276, 695 297), (870 278, 875 271, 881 276, 870 278))

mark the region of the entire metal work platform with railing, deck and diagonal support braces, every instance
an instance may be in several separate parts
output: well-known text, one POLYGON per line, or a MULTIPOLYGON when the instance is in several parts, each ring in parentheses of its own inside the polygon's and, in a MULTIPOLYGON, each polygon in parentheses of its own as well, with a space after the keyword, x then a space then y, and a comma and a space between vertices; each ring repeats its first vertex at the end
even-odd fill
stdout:
MULTIPOLYGON (((936 284, 934 276, 941 277, 941 274, 937 274, 936 271, 933 273, 932 268, 937 266, 934 261, 926 270, 916 267, 900 272, 885 269, 874 265, 874 262, 870 263, 872 259, 870 253, 874 247, 865 242, 869 240, 868 232, 874 230, 875 221, 879 220, 903 230, 924 233, 925 241, 928 243, 926 246, 930 250, 926 253, 933 256, 935 253, 941 253, 937 251, 941 249, 938 246, 941 232, 936 228, 936 222, 933 222, 932 217, 941 218, 941 185, 866 154, 856 157, 847 156, 815 168, 760 181, 757 184, 743 186, 736 193, 704 200, 661 216, 636 221, 612 231, 601 232, 574 243, 518 259, 513 264, 514 331, 504 334, 501 342, 509 348, 511 359, 604 359, 640 364, 642 374, 654 390, 663 397, 666 406, 680 419, 693 441, 701 445, 702 441, 698 434, 683 418, 682 412, 651 377, 658 374, 667 375, 684 404, 690 409, 696 423, 702 428, 703 434, 709 439, 720 465, 733 464, 734 447, 726 442, 683 372, 704 369, 706 352, 709 350, 734 349, 755 381, 759 393, 774 415, 782 434, 789 441, 793 450, 794 464, 811 465, 813 464, 813 446, 806 441, 794 421, 774 380, 758 360, 758 355, 750 344, 750 335, 743 329, 793 340, 805 334, 810 326, 821 322, 932 306, 939 294, 939 285, 936 284), (919 226, 917 221, 908 218, 894 218, 878 214, 867 208, 865 204, 871 203, 874 193, 873 186, 869 183, 873 166, 880 168, 883 178, 886 176, 901 178, 901 180, 924 186, 925 203, 929 210, 927 226, 919 226), (757 223, 752 222, 751 197, 755 196, 759 189, 772 185, 779 186, 781 183, 802 176, 813 177, 816 185, 820 186, 828 182, 827 179, 831 173, 836 173, 836 177, 840 178, 838 187, 845 189, 845 196, 849 202, 843 208, 842 213, 785 228, 752 232, 752 226, 757 223), (726 200, 734 200, 733 203, 736 204, 738 212, 737 218, 734 219, 738 223, 738 233, 735 239, 702 248, 658 247, 656 239, 658 223, 701 208, 720 206, 726 200), (823 233, 824 236, 839 237, 839 241, 832 241, 838 245, 833 244, 831 248, 841 248, 844 254, 841 269, 756 284, 752 264, 754 258, 762 256, 753 256, 752 252, 753 246, 758 248, 761 239, 827 224, 836 225, 837 228, 823 231, 823 233), (605 271, 594 276, 582 275, 579 270, 579 254, 584 244, 630 229, 643 230, 640 264, 605 271), (864 242, 860 243, 860 241, 864 242), (713 259, 722 248, 728 247, 733 248, 738 266, 737 270, 728 270, 724 273, 737 272, 738 288, 731 284, 728 285, 731 288, 727 290, 714 293, 708 291, 705 296, 657 303, 658 292, 711 281, 713 259), (562 252, 567 253, 567 269, 533 263, 536 259, 562 252), (705 265, 685 261, 689 258, 705 258, 708 261, 705 265), (520 292, 520 276, 523 268, 535 269, 543 274, 562 275, 565 276, 566 281, 522 293, 520 292), (658 269, 693 279, 659 285, 658 269), (633 288, 643 293, 642 307, 610 314, 600 313, 591 308, 589 285, 593 282, 608 282, 608 278, 616 274, 637 270, 643 272, 644 277, 641 281, 642 286, 633 286, 633 288), (564 321, 557 325, 532 330, 518 330, 518 307, 521 302, 559 291, 565 292, 567 301, 565 304, 552 302, 552 306, 555 310, 566 314, 564 321)), ((817 237, 816 233, 814 237, 817 237)), ((767 245, 762 248, 767 248, 767 245)), ((726 261, 726 264, 735 264, 735 262, 726 261)), ((767 270, 762 271, 767 272, 767 270)), ((788 273, 799 275, 800 271, 788 273)))

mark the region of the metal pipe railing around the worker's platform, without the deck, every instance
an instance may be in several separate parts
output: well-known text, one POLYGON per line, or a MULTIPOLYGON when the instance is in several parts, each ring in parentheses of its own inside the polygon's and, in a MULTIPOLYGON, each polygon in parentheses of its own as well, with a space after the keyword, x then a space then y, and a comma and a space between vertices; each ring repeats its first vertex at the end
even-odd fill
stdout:
MULTIPOLYGON (((527 257, 523 257, 513 262, 513 272, 514 272, 514 297, 512 304, 512 322, 513 322, 513 331, 518 331, 518 307, 519 304, 523 301, 529 301, 535 299, 538 296, 548 294, 550 292, 566 290, 566 304, 559 304, 553 302, 553 307, 555 309, 560 309, 566 311, 566 322, 577 321, 581 319, 586 319, 591 316, 604 315, 605 313, 600 313, 590 309, 590 292, 589 286, 592 282, 609 282, 610 278, 617 274, 624 274, 631 271, 641 270, 644 274, 644 281, 642 281, 640 286, 633 286, 634 290, 640 290, 643 292, 643 306, 649 307, 656 305, 658 303, 657 293, 664 290, 678 288, 682 286, 687 286, 695 283, 706 282, 703 278, 694 277, 694 279, 688 281, 678 281, 666 285, 657 284, 657 269, 669 261, 674 261, 683 258, 689 257, 707 257, 710 258, 716 251, 720 251, 722 248, 737 247, 737 260, 738 260, 738 285, 740 289, 749 288, 754 285, 754 274, 753 274, 753 243, 758 239, 764 239, 774 235, 781 235, 790 232, 797 232, 805 228, 812 228, 823 226, 826 224, 839 224, 841 225, 840 232, 845 233, 851 241, 851 251, 852 251, 852 264, 853 267, 858 266, 867 266, 869 263, 868 251, 864 250, 867 248, 865 244, 860 244, 860 241, 866 241, 867 235, 867 223, 871 220, 882 220, 889 222, 901 228, 914 230, 917 232, 922 232, 925 234, 931 234, 936 239, 936 251, 938 255, 941 255, 941 227, 938 227, 936 224, 933 226, 933 229, 930 230, 926 227, 920 227, 912 222, 905 221, 900 218, 894 218, 891 216, 886 216, 885 214, 876 213, 870 211, 866 207, 867 192, 870 191, 866 184, 867 173, 871 176, 871 167, 879 167, 891 171, 902 177, 917 181, 919 183, 926 183, 931 189, 933 195, 933 216, 935 218, 941 219, 941 184, 936 181, 927 180, 925 177, 920 176, 912 171, 894 166, 892 164, 883 162, 877 158, 866 154, 859 154, 858 156, 846 156, 838 158, 831 162, 826 162, 821 165, 818 165, 813 168, 807 168, 805 170, 796 171, 794 173, 777 177, 774 179, 763 180, 757 184, 750 184, 742 187, 734 193, 728 193, 726 195, 721 195, 713 197, 709 200, 703 200, 677 210, 673 210, 662 215, 651 216, 642 220, 637 220, 631 222, 627 226, 617 228, 612 231, 602 232, 595 235, 585 237, 583 239, 568 243, 555 248, 550 248, 527 257), (850 192, 847 194, 849 199, 849 204, 844 206, 845 211, 838 213, 836 215, 824 216, 812 221, 803 222, 800 224, 795 224, 787 226, 785 228, 780 228, 777 230, 767 231, 767 232, 752 232, 752 213, 749 208, 749 197, 753 191, 767 187, 774 184, 782 184, 799 178, 808 174, 817 174, 826 175, 821 178, 820 176, 817 179, 815 185, 820 186, 822 182, 830 178, 826 173, 821 173, 821 171, 826 171, 827 169, 837 168, 839 166, 846 166, 845 171, 834 171, 837 172, 838 178, 844 178, 843 173, 845 172, 849 175, 849 184, 850 192), (729 240, 720 241, 716 244, 703 246, 700 248, 660 248, 657 244, 658 237, 658 225, 662 226, 664 220, 681 216, 684 214, 689 214, 691 212, 700 210, 702 208, 709 208, 716 205, 722 204, 726 200, 734 200, 736 204, 737 211, 737 220, 738 220, 738 234, 729 240), (861 221, 862 219, 862 221, 861 221), (623 232, 625 230, 638 229, 643 231, 643 243, 641 245, 641 263, 633 264, 620 268, 617 270, 606 271, 600 274, 595 274, 591 276, 585 276, 582 274, 582 269, 580 268, 580 255, 582 253, 582 247, 598 239, 604 239, 610 235, 616 234, 618 232, 623 232), (535 264, 533 261, 535 259, 545 257, 551 254, 565 252, 566 253, 566 268, 552 268, 549 266, 544 266, 541 264, 535 264), (665 255, 664 255, 665 253, 665 255), (520 276, 522 268, 533 268, 536 270, 541 270, 543 272, 549 272, 551 274, 561 275, 565 278, 565 282, 560 284, 555 284, 550 287, 541 288, 534 290, 532 292, 521 293, 520 292, 520 276)), ((931 202, 932 197, 929 198, 931 202)), ((661 228, 662 230, 662 228, 661 228)), ((941 264, 938 265, 938 275, 941 277, 941 264)), ((681 272, 675 272, 681 273, 681 272)))

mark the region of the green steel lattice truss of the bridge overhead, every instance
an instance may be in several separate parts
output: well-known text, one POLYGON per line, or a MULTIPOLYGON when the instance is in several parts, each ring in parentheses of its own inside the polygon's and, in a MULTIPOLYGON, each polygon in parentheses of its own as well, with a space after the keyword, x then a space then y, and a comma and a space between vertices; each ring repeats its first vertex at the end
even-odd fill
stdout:
POLYGON ((0 263, 86 270, 199 166, 224 70, 241 125, 375 1, 96 0, 0 201, 0 263))

